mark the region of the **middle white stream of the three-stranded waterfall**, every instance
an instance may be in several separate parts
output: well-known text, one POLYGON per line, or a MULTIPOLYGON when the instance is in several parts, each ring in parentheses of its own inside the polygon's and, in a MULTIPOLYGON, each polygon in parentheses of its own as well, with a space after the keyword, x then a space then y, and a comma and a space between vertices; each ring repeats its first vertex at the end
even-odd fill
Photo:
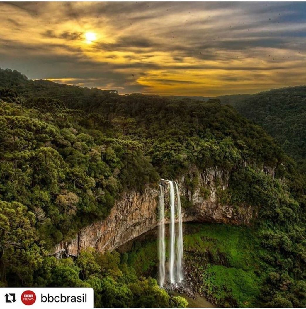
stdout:
POLYGON ((169 180, 169 197, 170 197, 170 263, 169 274, 170 282, 175 283, 174 278, 174 259, 175 259, 175 201, 174 201, 174 186, 169 180))

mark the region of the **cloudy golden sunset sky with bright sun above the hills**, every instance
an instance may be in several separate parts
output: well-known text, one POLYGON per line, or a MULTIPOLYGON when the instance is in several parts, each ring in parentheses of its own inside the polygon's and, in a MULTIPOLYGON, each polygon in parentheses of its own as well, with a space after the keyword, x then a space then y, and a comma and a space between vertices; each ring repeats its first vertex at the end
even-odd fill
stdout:
POLYGON ((306 2, 0 2, 0 68, 119 93, 306 84, 306 2))

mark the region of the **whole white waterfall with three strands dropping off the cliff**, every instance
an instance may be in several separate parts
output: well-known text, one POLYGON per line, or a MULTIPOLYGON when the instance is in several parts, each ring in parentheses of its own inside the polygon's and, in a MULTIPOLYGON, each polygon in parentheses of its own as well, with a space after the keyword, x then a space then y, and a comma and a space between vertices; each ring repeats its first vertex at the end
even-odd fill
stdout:
MULTIPOLYGON (((170 205, 170 243, 169 243, 169 277, 170 284, 178 286, 183 280, 183 227, 181 199, 178 184, 175 181, 164 180, 169 184, 170 205), (174 189, 175 186, 175 189, 174 189), (176 194, 174 194, 176 191, 176 194), (176 195, 176 203, 175 203, 176 195), (176 206, 176 207, 175 207, 176 206), (175 216, 178 217, 178 228, 175 231, 175 216), (176 249, 176 250, 175 250, 176 249)), ((165 197, 164 188, 159 185, 159 229, 158 229, 158 255, 159 255, 159 285, 164 286, 166 280, 166 245, 165 245, 165 197)))

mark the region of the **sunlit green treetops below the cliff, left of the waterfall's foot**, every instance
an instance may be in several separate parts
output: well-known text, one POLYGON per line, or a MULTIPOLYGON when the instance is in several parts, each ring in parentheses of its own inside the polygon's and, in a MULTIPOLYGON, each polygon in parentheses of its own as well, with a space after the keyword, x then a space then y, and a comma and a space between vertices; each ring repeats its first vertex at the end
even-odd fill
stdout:
POLYGON ((33 286, 92 287, 95 307, 186 307, 186 300, 170 297, 155 279, 137 277, 135 270, 120 262, 119 254, 82 251, 71 258, 45 257, 33 286))

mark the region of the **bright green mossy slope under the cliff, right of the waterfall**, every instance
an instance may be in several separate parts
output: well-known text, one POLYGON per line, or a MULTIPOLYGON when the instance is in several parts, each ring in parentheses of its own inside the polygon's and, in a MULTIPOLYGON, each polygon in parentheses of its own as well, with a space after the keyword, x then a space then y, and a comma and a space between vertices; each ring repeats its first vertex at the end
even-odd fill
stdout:
POLYGON ((199 293, 220 306, 263 305, 260 289, 268 265, 261 259, 257 232, 224 224, 187 227, 186 267, 197 278, 199 293))

